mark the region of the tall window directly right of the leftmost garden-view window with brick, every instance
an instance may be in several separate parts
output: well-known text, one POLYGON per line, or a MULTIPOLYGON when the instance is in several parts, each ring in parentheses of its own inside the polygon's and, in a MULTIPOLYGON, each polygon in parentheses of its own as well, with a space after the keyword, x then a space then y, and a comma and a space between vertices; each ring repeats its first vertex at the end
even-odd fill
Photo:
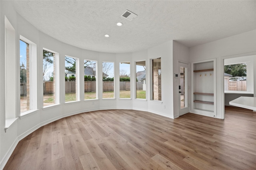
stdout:
POLYGON ((56 104, 56 54, 43 50, 44 107, 56 104))

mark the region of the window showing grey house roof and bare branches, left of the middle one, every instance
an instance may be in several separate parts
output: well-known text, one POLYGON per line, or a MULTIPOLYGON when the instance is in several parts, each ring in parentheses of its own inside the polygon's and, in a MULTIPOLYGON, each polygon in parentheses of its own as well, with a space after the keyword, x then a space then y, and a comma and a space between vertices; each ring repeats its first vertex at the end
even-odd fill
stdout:
POLYGON ((84 100, 97 98, 96 61, 84 60, 84 100))

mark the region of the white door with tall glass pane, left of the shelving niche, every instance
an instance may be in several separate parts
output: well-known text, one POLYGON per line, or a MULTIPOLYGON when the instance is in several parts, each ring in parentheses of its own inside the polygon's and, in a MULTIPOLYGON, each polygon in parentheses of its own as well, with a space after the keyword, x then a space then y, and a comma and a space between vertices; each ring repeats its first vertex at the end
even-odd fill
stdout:
POLYGON ((184 115, 189 112, 189 98, 188 98, 188 80, 189 80, 189 68, 188 64, 178 63, 178 67, 180 68, 179 73, 179 95, 178 95, 178 104, 179 104, 179 116, 184 115))

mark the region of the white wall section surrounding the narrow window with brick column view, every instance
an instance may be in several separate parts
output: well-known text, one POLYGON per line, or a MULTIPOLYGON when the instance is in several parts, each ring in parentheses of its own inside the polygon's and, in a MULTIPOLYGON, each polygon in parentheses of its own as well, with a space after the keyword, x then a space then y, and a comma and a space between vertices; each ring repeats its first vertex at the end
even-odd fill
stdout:
POLYGON ((147 81, 147 99, 148 111, 164 115, 166 117, 174 118, 173 114, 173 99, 172 97, 172 84, 173 84, 173 70, 170 66, 173 65, 173 54, 172 54, 173 41, 168 41, 156 47, 148 49, 148 59, 146 60, 146 81, 147 81), (156 59, 161 57, 161 85, 162 85, 162 101, 150 100, 150 59, 156 59), (164 107, 165 106, 165 107, 164 107))

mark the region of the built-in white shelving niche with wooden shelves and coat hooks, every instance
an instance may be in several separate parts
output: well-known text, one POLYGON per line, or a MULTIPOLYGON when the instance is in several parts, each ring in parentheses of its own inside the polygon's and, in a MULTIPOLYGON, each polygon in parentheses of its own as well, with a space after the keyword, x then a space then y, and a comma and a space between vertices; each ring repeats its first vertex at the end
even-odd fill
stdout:
POLYGON ((216 59, 192 63, 192 113, 216 117, 216 59))

